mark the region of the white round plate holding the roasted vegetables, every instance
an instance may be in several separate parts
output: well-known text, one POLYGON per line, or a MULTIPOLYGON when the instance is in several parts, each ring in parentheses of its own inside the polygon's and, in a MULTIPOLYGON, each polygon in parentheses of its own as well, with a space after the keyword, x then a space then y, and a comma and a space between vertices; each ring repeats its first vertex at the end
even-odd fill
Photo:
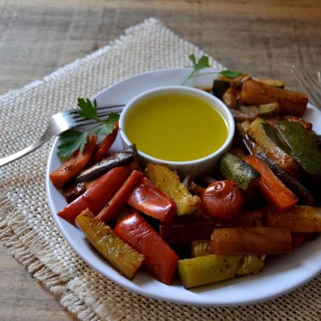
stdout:
MULTIPOLYGON (((183 68, 143 73, 123 80, 93 98, 97 99, 98 106, 125 104, 145 90, 164 85, 179 85, 190 71, 190 69, 183 68)), ((194 78, 188 85, 208 87, 212 85, 213 78, 212 75, 200 76, 194 78)), ((305 118, 313 122, 314 130, 320 134, 321 113, 309 106, 305 118)), ((192 290, 185 290, 178 278, 174 280, 172 285, 165 285, 143 269, 138 271, 134 280, 127 280, 101 258, 97 252, 92 250, 85 241, 83 233, 77 227, 57 216, 56 213, 67 205, 62 194, 50 183, 48 176, 48 173, 57 169, 60 164, 56 157, 57 145, 58 140, 56 139, 49 155, 46 173, 46 190, 52 216, 66 241, 87 264, 127 290, 143 294, 146 297, 179 304, 238 306, 266 301, 290 292, 317 276, 321 271, 321 238, 319 237, 313 242, 305 243, 290 254, 269 257, 261 273, 225 280, 192 290)), ((116 139, 111 152, 121 148, 120 140, 116 139)))

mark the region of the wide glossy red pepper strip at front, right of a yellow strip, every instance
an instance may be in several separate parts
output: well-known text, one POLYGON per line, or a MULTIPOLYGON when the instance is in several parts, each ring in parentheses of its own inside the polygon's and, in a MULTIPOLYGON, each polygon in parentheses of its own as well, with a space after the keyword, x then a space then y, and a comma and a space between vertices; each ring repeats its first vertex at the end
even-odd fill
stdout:
POLYGON ((124 218, 115 227, 115 233, 132 248, 145 255, 145 264, 165 284, 171 284, 178 255, 137 213, 124 218))

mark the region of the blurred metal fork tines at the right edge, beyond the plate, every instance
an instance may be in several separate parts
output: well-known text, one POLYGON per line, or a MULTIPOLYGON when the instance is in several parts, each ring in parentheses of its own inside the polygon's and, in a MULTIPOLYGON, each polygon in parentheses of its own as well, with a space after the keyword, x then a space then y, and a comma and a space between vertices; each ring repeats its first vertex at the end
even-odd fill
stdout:
POLYGON ((300 64, 294 64, 292 66, 292 73, 304 92, 308 94, 315 108, 318 108, 318 110, 321 111, 320 72, 318 72, 319 81, 311 77, 300 64))

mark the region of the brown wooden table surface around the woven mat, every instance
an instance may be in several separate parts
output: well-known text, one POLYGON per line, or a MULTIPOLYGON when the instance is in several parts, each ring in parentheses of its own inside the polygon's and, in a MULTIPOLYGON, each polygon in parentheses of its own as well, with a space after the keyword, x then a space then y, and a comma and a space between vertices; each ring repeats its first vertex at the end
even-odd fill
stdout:
MULTIPOLYGON (((0 94, 151 16, 230 69, 283 78, 293 89, 292 64, 321 69, 320 0, 0 0, 0 94)), ((0 320, 76 319, 1 247, 0 275, 0 320)))

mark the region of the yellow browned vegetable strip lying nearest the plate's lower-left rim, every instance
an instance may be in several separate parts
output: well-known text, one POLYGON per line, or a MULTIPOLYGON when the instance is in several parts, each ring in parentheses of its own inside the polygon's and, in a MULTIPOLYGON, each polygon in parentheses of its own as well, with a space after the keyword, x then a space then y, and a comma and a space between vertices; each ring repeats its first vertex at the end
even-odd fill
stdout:
POLYGON ((87 210, 76 217, 77 226, 90 243, 122 275, 132 280, 143 263, 144 256, 124 243, 110 227, 87 210))

